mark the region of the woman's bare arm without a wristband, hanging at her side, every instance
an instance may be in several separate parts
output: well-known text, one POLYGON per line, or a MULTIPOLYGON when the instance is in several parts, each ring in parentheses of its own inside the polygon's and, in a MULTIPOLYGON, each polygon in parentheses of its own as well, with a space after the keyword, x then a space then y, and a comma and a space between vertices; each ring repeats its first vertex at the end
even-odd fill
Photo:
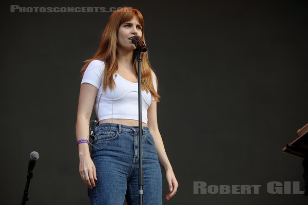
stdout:
POLYGON ((166 172, 166 179, 168 181, 169 193, 166 195, 166 199, 169 200, 172 196, 177 193, 177 189, 179 187, 179 183, 176 179, 174 171, 171 167, 169 159, 167 157, 165 147, 163 144, 162 136, 158 129, 157 124, 157 102, 155 100, 152 101, 151 105, 148 107, 147 110, 147 117, 148 117, 148 128, 150 133, 153 136, 155 142, 155 148, 158 155, 158 159, 162 167, 165 169, 166 172))

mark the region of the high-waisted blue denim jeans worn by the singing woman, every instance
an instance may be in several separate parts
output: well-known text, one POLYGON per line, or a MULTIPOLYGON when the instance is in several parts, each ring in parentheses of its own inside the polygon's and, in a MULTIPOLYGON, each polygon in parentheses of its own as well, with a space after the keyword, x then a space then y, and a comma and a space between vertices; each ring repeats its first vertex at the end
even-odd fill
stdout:
MULTIPOLYGON (((162 173, 155 143, 142 127, 143 204, 162 204, 162 173)), ((88 189, 92 205, 139 204, 139 127, 103 123, 95 128, 91 158, 97 178, 88 189)))

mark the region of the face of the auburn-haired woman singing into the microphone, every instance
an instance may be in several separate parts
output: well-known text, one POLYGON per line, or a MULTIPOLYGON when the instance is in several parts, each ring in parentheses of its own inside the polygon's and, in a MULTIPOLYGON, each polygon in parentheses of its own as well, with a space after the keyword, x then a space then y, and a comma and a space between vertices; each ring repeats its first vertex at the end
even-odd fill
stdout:
POLYGON ((139 35, 142 37, 141 25, 136 16, 134 16, 129 22, 125 22, 120 25, 118 32, 118 46, 121 49, 125 49, 128 51, 132 51, 136 49, 136 47, 132 44, 129 39, 131 36, 139 35))

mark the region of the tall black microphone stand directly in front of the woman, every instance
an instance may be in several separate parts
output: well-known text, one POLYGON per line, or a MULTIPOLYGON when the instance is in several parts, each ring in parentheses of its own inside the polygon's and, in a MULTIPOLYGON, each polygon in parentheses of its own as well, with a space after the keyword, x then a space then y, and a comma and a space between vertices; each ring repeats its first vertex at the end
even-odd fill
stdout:
POLYGON ((143 204, 143 168, 142 168, 142 107, 141 107, 141 51, 138 51, 138 109, 139 109, 139 204, 143 204))

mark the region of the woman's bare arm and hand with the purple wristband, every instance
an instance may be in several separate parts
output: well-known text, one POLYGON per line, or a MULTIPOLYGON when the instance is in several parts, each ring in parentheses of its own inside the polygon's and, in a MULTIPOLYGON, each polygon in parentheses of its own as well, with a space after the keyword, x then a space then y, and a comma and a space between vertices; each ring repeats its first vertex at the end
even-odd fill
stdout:
MULTIPOLYGON (((83 83, 80 87, 76 121, 77 141, 80 139, 89 139, 89 122, 97 92, 98 89, 88 83, 83 83)), ((78 145, 78 149, 80 175, 86 176, 83 180, 89 188, 95 187, 94 179, 97 180, 97 176, 95 166, 90 157, 89 146, 87 143, 81 143, 78 145)))

